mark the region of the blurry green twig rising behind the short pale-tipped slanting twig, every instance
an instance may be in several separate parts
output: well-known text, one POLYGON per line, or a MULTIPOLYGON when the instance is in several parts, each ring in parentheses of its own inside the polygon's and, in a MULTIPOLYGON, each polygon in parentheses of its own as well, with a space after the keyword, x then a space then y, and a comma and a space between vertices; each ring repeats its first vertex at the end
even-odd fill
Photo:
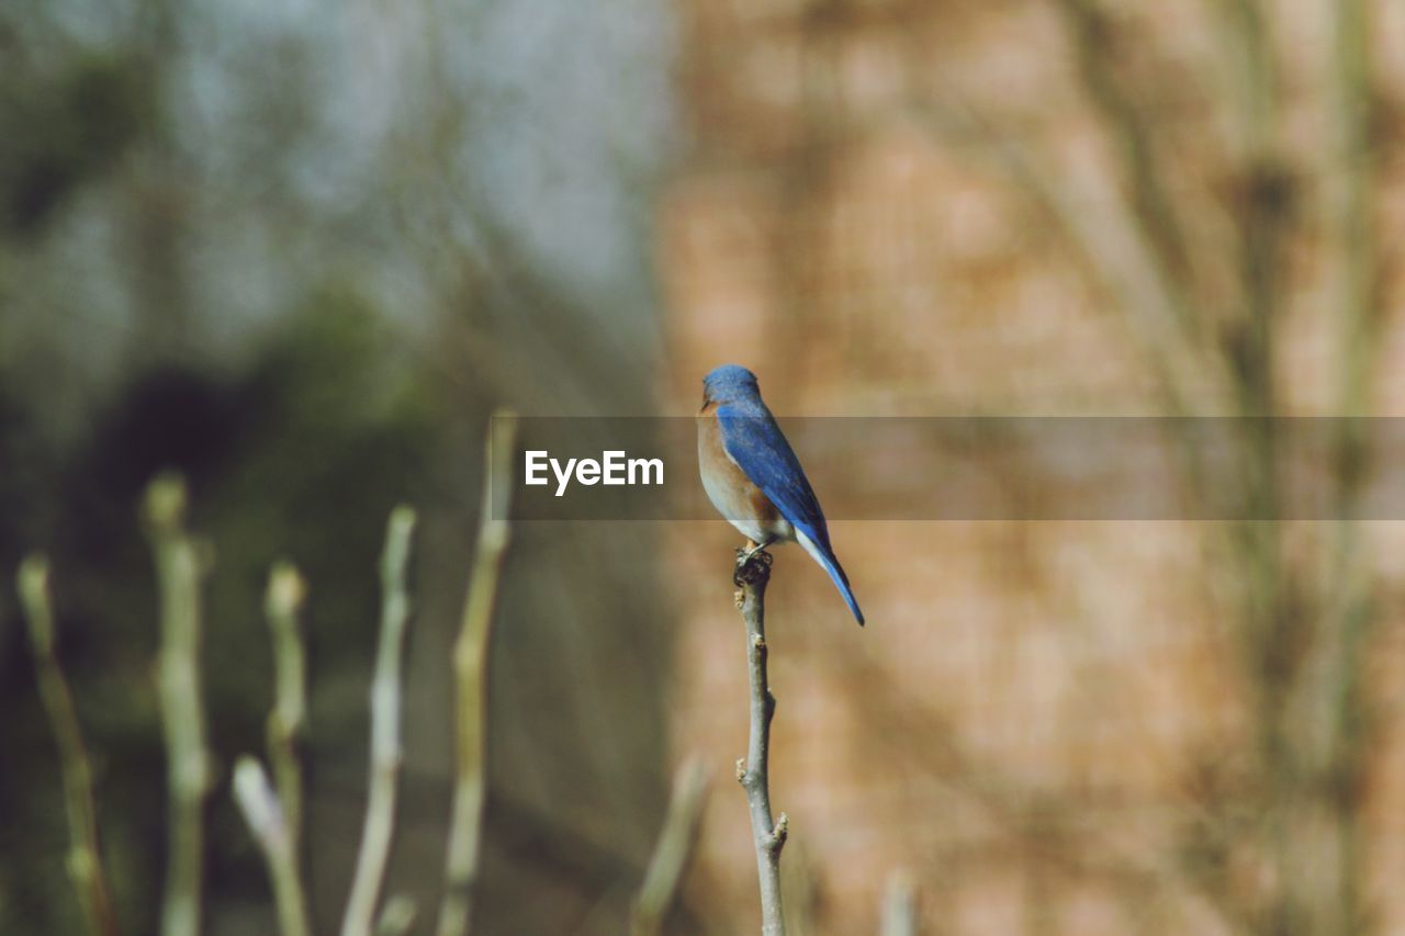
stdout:
POLYGON ((273 631, 274 704, 268 713, 268 763, 294 859, 302 854, 302 766, 298 746, 308 729, 308 655, 298 613, 306 583, 291 562, 268 575, 264 613, 273 631))

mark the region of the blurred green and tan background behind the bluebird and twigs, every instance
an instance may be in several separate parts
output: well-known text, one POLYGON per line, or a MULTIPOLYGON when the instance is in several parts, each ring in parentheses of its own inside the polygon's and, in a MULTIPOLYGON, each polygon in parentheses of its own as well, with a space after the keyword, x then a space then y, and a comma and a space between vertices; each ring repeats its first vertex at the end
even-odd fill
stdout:
MULTIPOLYGON (((313 916, 340 921, 377 554, 420 509, 388 892, 427 932, 495 406, 688 415, 735 361, 790 415, 1405 410, 1384 0, 18 0, 0 62, 0 565, 52 557, 124 932, 155 932, 163 874, 136 509, 162 468, 215 557, 209 933, 274 926, 228 767, 264 745, 281 557, 311 593, 313 916)), ((1324 523, 1273 520, 1272 423, 1245 426, 1256 520, 835 523, 863 631, 778 554, 792 932, 875 932, 894 874, 933 933, 1405 932, 1405 531, 1357 509, 1359 423, 1324 523)), ((806 464, 821 496, 868 469, 806 464)), ((756 929, 735 545, 514 531, 475 932, 622 932, 694 752, 666 932, 756 929)), ((0 706, 0 932, 80 932, 8 586, 0 706)))

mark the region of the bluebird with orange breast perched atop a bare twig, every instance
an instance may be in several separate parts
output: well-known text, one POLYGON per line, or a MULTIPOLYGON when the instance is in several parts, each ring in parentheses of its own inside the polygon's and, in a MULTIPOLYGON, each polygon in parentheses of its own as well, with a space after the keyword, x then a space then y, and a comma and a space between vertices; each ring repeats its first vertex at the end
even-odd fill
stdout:
POLYGON ((799 542, 829 572, 858 624, 864 623, 805 469, 762 402, 756 374, 745 367, 725 364, 702 379, 698 468, 708 500, 750 537, 750 552, 773 542, 799 542))

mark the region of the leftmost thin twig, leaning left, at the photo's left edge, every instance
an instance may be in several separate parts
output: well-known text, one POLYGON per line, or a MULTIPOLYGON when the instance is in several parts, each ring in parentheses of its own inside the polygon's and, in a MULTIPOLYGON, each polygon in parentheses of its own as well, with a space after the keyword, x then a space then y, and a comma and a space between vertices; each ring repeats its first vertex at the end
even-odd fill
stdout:
POLYGON ((97 805, 93 797, 93 769, 83 746, 83 729, 73 704, 73 693, 53 652, 53 606, 49 600, 49 561, 31 555, 20 565, 20 604, 30 624, 30 649, 34 654, 39 697, 44 700, 49 728, 59 748, 63 774, 63 805, 69 818, 69 876, 79 892, 79 902, 89 929, 96 936, 117 935, 117 915, 103 873, 103 852, 97 833, 97 805))

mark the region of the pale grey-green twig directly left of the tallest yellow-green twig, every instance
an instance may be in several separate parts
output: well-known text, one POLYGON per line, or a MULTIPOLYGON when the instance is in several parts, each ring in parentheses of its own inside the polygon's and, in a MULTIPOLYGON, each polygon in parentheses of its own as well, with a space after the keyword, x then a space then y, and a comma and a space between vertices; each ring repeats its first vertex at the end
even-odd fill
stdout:
POLYGON ((365 802, 365 826, 355 878, 347 901, 341 936, 370 936, 375 904, 385 880, 395 829, 395 790, 400 769, 400 654, 410 597, 405 571, 414 534, 414 510, 399 506, 391 512, 381 554, 381 639, 375 651, 371 680, 371 766, 365 802))

